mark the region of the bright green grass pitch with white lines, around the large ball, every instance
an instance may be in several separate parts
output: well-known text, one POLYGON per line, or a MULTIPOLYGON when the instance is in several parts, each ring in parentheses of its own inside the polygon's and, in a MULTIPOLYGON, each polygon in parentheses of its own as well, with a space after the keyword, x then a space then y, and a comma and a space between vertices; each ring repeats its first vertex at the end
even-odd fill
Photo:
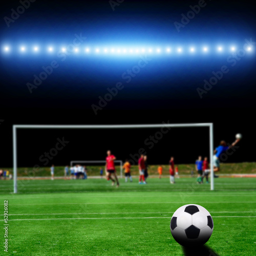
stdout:
POLYGON ((190 255, 173 239, 169 223, 177 208, 191 203, 214 219, 206 255, 254 254, 253 178, 216 179, 216 191, 195 178, 176 181, 121 180, 116 188, 104 179, 30 180, 14 195, 7 194, 12 181, 0 180, 2 204, 9 204, 8 254, 190 255))

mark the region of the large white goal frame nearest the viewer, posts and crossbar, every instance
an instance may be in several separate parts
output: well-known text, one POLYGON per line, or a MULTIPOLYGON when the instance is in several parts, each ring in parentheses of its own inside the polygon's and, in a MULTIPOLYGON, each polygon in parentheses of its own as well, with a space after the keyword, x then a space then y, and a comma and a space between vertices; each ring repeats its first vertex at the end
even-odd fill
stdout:
POLYGON ((27 125, 14 124, 13 131, 13 186, 14 193, 17 193, 17 129, 146 129, 161 127, 208 127, 209 128, 209 146, 210 146, 210 189, 214 190, 214 124, 213 123, 180 123, 180 124, 121 124, 121 125, 27 125))

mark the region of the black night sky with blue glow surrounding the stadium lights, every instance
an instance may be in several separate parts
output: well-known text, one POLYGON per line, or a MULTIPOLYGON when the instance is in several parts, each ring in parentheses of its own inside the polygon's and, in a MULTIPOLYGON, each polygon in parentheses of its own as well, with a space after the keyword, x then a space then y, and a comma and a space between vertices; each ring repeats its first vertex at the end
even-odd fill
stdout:
MULTIPOLYGON (((256 41, 256 8, 249 1, 205 1, 189 23, 180 29, 181 14, 198 1, 124 1, 112 10, 109 1, 35 1, 8 28, 4 17, 11 16, 18 1, 1 8, 1 48, 38 44, 41 48, 60 47, 73 42, 75 34, 86 37, 80 47, 101 45, 181 46, 236 45, 243 49, 245 39, 256 41)), ((252 43, 252 47, 255 45, 252 43)), ((131 78, 125 72, 138 65, 139 56, 103 57, 70 55, 65 60, 55 52, 25 53, 1 51, 0 87, 0 167, 12 166, 13 124, 126 124, 213 122, 215 146, 229 142, 234 134, 244 135, 240 148, 229 162, 255 161, 255 50, 241 59, 230 52, 207 55, 183 53, 173 57, 152 55, 145 67, 131 78), (58 68, 29 92, 27 83, 52 61, 58 68), (223 66, 228 72, 202 99, 197 88, 223 66), (128 82, 129 81, 129 82, 128 82), (118 82, 122 89, 95 115, 92 104, 99 103, 108 88, 118 82)), ((142 57, 145 57, 143 55, 142 57)), ((20 131, 18 164, 33 166, 56 138, 67 137, 69 146, 53 159, 55 165, 76 158, 104 159, 112 148, 119 159, 145 147, 144 140, 157 130, 148 131, 20 131), (111 138, 111 139, 110 139, 111 138)), ((179 163, 190 163, 198 154, 208 155, 207 130, 172 130, 147 152, 150 163, 167 162, 175 155, 179 163)), ((50 164, 50 163, 49 163, 50 164)))

